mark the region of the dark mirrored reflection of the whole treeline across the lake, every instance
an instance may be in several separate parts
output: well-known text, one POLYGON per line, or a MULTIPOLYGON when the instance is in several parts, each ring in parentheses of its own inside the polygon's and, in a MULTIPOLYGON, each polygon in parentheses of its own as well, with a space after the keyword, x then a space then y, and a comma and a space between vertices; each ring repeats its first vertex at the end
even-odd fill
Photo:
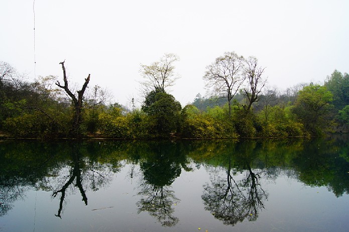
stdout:
POLYGON ((63 217, 70 195, 77 193, 87 204, 89 191, 106 188, 123 165, 131 164, 131 180, 138 171, 142 179, 137 187, 138 213, 148 212, 161 224, 173 226, 178 224, 174 205, 180 200, 171 184, 183 170, 192 170, 187 167, 191 163, 212 167, 210 180, 203 185, 206 210, 225 224, 253 221, 268 199, 262 179, 276 180, 281 175, 307 186, 325 186, 336 197, 348 194, 348 141, 189 141, 184 145, 7 141, 0 143, 0 217, 33 190, 50 192, 58 208, 52 214, 63 217))

